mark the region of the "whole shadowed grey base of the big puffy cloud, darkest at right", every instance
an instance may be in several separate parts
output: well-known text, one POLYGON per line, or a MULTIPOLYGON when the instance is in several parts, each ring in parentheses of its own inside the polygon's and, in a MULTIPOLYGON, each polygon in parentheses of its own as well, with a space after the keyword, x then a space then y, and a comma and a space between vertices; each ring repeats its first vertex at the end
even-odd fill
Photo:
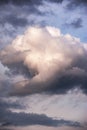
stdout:
MULTIPOLYGON (((72 71, 72 70, 71 70, 72 71)), ((50 81, 46 83, 29 83, 28 80, 23 80, 14 84, 14 90, 10 92, 11 96, 25 96, 35 93, 46 94, 66 94, 69 90, 75 88, 81 89, 84 94, 87 94, 87 74, 69 72, 62 73, 60 77, 56 74, 50 81), (22 84, 24 88, 21 89, 22 84), (19 87, 19 88, 18 88, 19 87)))

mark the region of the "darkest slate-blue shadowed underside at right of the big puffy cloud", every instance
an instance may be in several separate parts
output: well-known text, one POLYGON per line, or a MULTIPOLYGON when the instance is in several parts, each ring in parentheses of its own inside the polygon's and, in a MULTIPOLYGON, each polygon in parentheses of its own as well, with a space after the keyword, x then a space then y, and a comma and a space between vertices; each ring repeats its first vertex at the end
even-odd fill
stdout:
POLYGON ((54 83, 51 84, 51 86, 47 91, 56 94, 64 94, 67 93, 67 91, 77 87, 81 89, 85 94, 87 94, 86 86, 87 86, 87 75, 79 75, 79 74, 77 75, 72 73, 69 74, 68 72, 68 74, 65 73, 59 79, 55 79, 54 83))

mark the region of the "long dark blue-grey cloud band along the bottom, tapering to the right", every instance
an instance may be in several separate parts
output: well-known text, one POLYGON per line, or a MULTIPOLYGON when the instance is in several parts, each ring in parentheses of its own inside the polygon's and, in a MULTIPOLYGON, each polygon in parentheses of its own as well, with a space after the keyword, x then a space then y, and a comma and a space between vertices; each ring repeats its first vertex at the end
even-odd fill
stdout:
MULTIPOLYGON (((16 113, 11 112, 8 108, 15 108, 17 105, 0 101, 0 126, 28 126, 28 125, 44 125, 44 126, 71 126, 82 127, 79 122, 69 120, 57 120, 43 114, 34 113, 16 113)), ((20 108, 20 106, 18 106, 20 108)))

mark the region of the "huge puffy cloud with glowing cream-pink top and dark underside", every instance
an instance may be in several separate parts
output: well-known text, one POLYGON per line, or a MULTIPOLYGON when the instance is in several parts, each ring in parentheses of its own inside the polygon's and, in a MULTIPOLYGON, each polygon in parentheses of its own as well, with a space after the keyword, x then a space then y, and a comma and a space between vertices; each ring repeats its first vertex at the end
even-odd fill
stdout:
POLYGON ((57 28, 29 27, 0 51, 0 60, 12 75, 11 95, 60 94, 75 87, 87 93, 87 49, 57 28))

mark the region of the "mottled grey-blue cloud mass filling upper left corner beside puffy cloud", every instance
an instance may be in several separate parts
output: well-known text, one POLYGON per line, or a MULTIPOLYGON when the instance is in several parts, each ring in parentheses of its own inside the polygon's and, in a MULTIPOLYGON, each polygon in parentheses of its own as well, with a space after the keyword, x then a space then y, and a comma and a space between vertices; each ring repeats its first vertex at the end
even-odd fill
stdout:
POLYGON ((37 17, 44 15, 38 10, 41 3, 35 0, 0 0, 0 48, 10 44, 27 26, 38 24, 37 17))

